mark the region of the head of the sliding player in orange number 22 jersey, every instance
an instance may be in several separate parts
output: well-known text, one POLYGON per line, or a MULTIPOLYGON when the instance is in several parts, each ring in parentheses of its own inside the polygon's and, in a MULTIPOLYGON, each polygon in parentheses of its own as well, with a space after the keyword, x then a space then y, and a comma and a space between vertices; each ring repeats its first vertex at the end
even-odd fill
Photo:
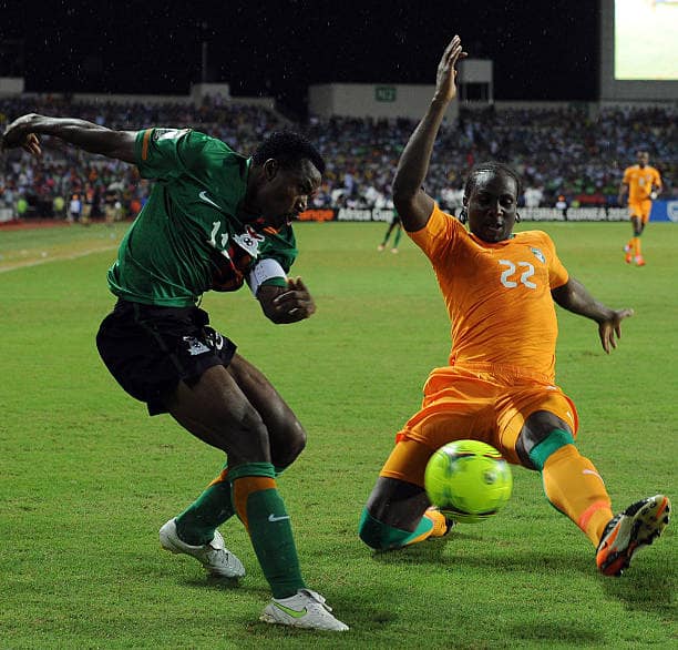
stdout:
POLYGON ((465 205, 469 228, 476 237, 491 244, 507 240, 517 209, 515 179, 503 172, 481 172, 465 205))

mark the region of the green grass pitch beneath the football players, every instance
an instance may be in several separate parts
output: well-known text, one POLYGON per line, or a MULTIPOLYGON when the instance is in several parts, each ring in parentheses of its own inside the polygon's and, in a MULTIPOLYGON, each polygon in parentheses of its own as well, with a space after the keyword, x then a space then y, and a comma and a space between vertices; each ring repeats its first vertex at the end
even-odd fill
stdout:
MULTIPOLYGON (((307 322, 275 326, 244 291, 204 301, 308 430, 279 487, 305 577, 351 627, 343 636, 257 621, 268 588, 235 520, 223 532, 248 570, 239 587, 158 549, 160 526, 222 458, 170 417, 148 418, 97 357, 114 253, 85 253, 122 231, 0 230, 0 648, 676 647, 671 528, 624 578, 604 579, 588 540, 520 468, 492 520, 400 552, 360 542, 393 434, 449 352, 427 260, 409 241, 377 253, 384 227, 298 226, 296 271, 318 305, 307 322)), ((597 297, 636 309, 609 356, 593 323, 558 312, 558 383, 579 410, 582 451, 617 508, 676 496, 678 227, 648 226, 644 268, 623 262, 627 223, 540 227, 597 297)))

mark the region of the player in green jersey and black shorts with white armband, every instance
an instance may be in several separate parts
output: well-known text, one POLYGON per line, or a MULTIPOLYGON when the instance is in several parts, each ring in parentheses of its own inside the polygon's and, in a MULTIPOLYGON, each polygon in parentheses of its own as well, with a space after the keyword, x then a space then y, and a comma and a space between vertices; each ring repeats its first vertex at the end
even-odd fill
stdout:
POLYGON ((161 528, 161 545, 195 557, 213 575, 240 578, 244 567, 217 530, 237 514, 273 592, 261 620, 347 630, 304 582, 276 486, 277 474, 304 449, 306 433, 197 306, 206 291, 247 283, 274 323, 314 314, 306 285, 287 274, 297 255, 290 220, 320 185, 322 158, 291 132, 273 133, 246 158, 189 129, 115 131, 37 114, 12 122, 2 149, 40 155, 40 134, 135 164, 142 177, 156 180, 109 271, 117 302, 101 324, 97 348, 151 415, 170 413, 227 457, 198 499, 161 528))

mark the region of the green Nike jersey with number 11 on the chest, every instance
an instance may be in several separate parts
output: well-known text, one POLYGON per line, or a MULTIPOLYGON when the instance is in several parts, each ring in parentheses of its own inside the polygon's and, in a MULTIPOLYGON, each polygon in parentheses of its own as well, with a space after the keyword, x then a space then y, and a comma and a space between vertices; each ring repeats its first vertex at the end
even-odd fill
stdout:
POLYGON ((273 228, 244 210, 249 159, 189 129, 140 131, 135 159, 141 176, 156 183, 109 270, 115 295, 185 307, 210 288, 239 288, 263 260, 289 271, 291 225, 273 228))

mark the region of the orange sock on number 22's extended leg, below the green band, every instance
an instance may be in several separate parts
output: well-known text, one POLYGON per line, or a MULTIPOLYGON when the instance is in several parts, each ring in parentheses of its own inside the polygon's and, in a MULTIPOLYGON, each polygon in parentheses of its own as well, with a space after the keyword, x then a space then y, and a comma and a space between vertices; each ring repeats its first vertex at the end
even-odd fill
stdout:
POLYGON ((546 458, 542 478, 553 506, 567 515, 597 547, 613 511, 609 495, 594 464, 574 445, 565 445, 546 458))

